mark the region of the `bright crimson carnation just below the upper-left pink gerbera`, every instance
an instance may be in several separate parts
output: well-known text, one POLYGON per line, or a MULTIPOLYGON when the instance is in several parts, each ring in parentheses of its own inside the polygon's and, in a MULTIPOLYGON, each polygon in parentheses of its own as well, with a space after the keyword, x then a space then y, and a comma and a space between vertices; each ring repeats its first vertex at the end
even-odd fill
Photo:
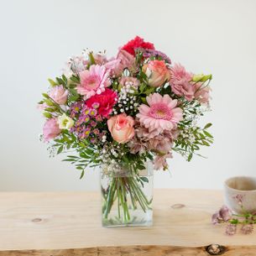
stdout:
POLYGON ((112 107, 117 102, 117 92, 110 89, 106 89, 101 94, 96 94, 90 97, 86 101, 86 106, 93 108, 94 103, 98 103, 97 112, 102 115, 102 117, 107 118, 112 112, 112 107))

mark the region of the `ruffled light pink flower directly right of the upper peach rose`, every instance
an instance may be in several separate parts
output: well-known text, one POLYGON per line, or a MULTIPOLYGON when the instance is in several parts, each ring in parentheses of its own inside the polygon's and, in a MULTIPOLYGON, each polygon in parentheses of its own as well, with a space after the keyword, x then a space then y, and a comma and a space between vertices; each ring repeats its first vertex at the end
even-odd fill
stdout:
POLYGON ((185 67, 175 64, 170 69, 171 90, 180 97, 185 97, 187 101, 194 98, 194 86, 191 84, 193 74, 185 71, 185 67))

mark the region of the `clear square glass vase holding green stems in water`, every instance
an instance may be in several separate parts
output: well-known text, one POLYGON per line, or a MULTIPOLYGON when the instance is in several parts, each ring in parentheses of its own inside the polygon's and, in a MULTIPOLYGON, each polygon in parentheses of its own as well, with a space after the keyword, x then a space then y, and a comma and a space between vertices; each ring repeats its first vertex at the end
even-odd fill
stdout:
POLYGON ((151 226, 153 223, 153 165, 131 172, 119 166, 102 165, 102 226, 151 226))

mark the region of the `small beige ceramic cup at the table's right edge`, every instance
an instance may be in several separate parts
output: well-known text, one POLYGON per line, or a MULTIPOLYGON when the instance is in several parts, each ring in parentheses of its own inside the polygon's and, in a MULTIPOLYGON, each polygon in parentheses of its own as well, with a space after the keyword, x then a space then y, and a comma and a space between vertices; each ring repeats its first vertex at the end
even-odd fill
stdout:
POLYGON ((256 212, 256 177, 238 176, 225 181, 224 196, 226 205, 237 213, 256 212))

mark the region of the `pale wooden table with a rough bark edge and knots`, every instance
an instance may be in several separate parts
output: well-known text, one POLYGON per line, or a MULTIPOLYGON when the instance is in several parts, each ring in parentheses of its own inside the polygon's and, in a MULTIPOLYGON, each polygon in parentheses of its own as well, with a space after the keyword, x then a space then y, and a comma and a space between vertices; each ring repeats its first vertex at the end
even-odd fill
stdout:
POLYGON ((220 206, 222 191, 155 190, 153 227, 103 228, 99 193, 2 192, 0 256, 256 255, 256 231, 212 226, 220 206))

